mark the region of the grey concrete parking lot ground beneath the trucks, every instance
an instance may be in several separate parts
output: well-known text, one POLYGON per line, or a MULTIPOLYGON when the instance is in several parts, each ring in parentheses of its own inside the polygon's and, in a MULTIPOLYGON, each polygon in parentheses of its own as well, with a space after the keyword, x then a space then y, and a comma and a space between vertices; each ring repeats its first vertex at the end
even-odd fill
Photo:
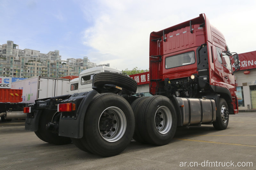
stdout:
POLYGON ((132 141, 124 152, 108 158, 74 144, 45 143, 24 127, 25 121, 0 122, 0 169, 256 169, 256 112, 230 115, 222 131, 212 125, 180 128, 164 146, 132 141), (251 167, 238 167, 247 162, 251 167))

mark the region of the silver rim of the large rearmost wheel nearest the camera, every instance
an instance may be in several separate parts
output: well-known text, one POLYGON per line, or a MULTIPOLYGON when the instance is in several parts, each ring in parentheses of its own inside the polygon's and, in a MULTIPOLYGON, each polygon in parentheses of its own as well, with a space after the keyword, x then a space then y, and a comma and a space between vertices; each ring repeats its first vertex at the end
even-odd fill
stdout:
POLYGON ((118 107, 108 107, 100 115, 98 129, 101 137, 108 142, 116 142, 126 130, 126 117, 118 107))

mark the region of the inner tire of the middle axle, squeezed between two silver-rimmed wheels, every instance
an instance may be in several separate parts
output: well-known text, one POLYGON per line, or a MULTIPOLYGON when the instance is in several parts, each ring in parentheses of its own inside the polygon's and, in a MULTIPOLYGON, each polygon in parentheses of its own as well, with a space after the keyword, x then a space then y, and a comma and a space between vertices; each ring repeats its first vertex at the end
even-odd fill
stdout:
POLYGON ((148 98, 149 97, 140 97, 139 99, 134 100, 131 105, 133 113, 134 113, 134 118, 135 118, 135 129, 134 129, 133 139, 140 143, 147 143, 141 137, 141 134, 140 134, 141 131, 139 129, 140 121, 139 121, 138 117, 141 113, 141 107, 142 107, 144 101, 148 98))

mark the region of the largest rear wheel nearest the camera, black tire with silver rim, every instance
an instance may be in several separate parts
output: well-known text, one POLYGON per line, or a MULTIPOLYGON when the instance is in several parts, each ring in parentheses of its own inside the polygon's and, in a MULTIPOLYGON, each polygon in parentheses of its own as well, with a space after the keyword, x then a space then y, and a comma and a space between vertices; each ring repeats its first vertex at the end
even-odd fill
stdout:
POLYGON ((114 93, 95 96, 84 118, 83 148, 101 156, 115 156, 130 143, 134 124, 132 107, 123 97, 114 93))

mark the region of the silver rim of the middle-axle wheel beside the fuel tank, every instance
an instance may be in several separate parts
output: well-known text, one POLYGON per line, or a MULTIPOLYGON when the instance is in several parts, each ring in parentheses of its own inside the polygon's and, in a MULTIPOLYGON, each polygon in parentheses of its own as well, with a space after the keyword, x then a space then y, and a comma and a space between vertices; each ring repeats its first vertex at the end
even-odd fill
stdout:
POLYGON ((172 113, 166 106, 161 106, 155 113, 155 127, 161 134, 166 134, 172 127, 172 113))

